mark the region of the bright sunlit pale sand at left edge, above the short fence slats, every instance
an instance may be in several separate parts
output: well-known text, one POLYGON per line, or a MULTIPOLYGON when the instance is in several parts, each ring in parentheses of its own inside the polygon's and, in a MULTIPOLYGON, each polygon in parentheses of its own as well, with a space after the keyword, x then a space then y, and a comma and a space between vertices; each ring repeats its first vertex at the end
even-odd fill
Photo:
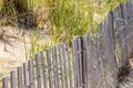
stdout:
MULTIPOLYGON (((0 40, 0 78, 25 62, 23 32, 12 26, 0 28, 4 31, 0 40)), ((29 35, 24 34, 27 43, 29 35)))

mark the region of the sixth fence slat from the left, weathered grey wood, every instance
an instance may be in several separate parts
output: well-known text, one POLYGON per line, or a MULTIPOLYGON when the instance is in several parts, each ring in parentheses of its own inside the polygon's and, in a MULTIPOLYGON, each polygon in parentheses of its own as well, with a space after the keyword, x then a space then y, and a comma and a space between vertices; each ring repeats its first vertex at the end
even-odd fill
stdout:
POLYGON ((35 67, 37 67, 37 82, 38 82, 38 88, 41 88, 41 73, 40 73, 39 54, 35 54, 35 67))

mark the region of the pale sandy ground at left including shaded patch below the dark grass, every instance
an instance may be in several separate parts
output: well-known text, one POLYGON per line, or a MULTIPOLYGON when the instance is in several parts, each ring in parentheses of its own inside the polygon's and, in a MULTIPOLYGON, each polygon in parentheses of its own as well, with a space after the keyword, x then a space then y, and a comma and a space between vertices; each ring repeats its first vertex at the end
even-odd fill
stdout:
MULTIPOLYGON (((33 33, 32 30, 0 26, 0 80, 28 61, 25 58, 25 44, 27 48, 30 48, 30 37, 33 33), (3 33, 3 36, 1 36, 1 33, 3 33)), ((40 35, 39 43, 49 44, 51 37, 45 30, 40 30, 38 33, 40 35)))

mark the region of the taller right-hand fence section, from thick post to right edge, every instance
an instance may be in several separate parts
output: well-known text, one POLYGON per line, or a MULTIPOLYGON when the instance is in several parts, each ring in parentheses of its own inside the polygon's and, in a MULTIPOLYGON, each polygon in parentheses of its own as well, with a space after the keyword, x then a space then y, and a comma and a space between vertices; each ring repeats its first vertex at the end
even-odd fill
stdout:
MULTIPOLYGON (((72 41, 74 88, 117 88, 133 58, 133 0, 109 11, 98 31, 72 41)), ((119 88, 132 88, 122 85, 119 88), (124 87, 125 86, 125 87, 124 87)))

